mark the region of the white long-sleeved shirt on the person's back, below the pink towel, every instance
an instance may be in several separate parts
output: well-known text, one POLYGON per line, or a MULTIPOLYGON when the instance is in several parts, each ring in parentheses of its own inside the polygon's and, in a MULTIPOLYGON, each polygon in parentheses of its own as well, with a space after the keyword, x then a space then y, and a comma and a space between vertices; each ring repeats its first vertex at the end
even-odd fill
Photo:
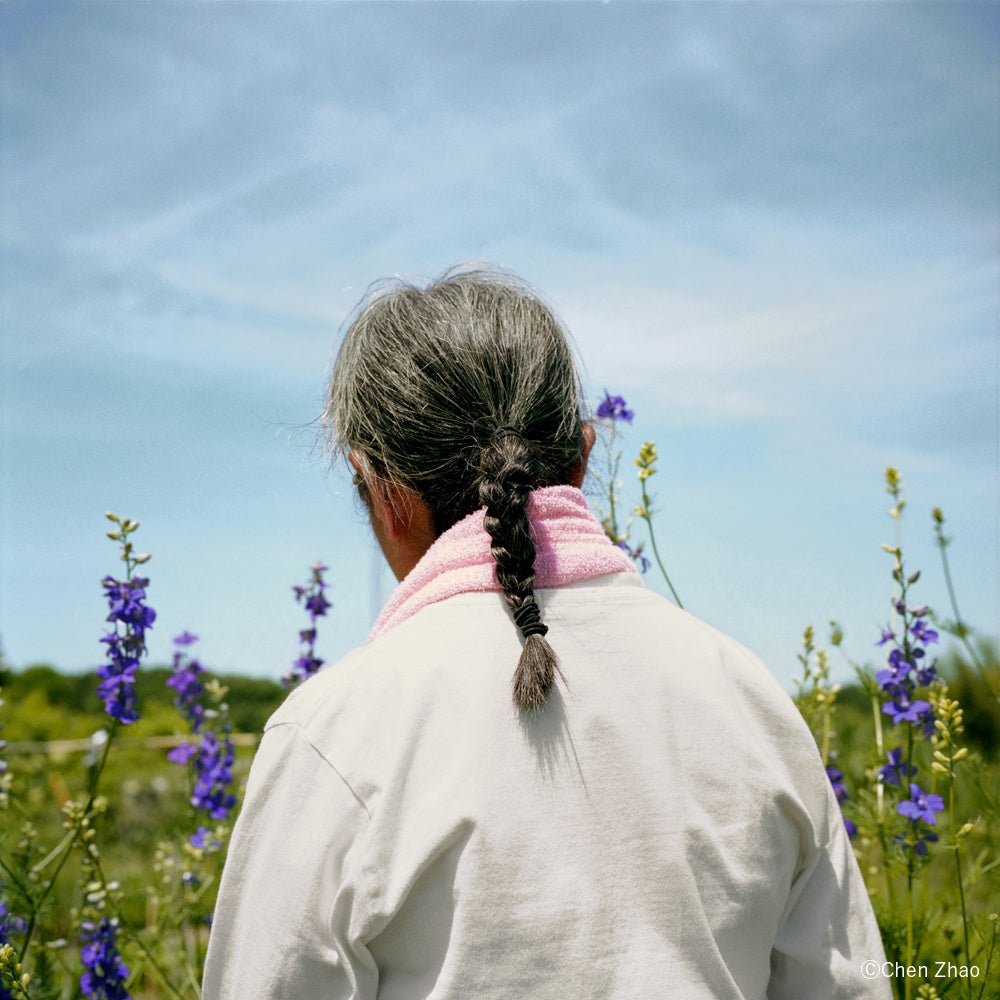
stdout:
POLYGON ((538 591, 518 713, 497 593, 296 690, 251 770, 205 1000, 889 998, 816 745, 731 639, 631 574, 538 591))

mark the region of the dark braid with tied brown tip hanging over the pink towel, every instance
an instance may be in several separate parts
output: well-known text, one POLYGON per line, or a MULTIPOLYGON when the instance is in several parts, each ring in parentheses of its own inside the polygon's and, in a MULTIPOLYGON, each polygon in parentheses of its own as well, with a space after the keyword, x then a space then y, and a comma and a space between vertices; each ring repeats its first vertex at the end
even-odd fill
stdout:
POLYGON ((541 477, 539 463, 527 442, 512 428, 501 428, 483 452, 480 503, 486 507, 483 525, 492 539, 497 582, 514 623, 524 636, 524 648, 514 671, 514 704, 525 710, 546 702, 559 661, 545 635, 535 601, 535 542, 528 521, 528 494, 541 477))

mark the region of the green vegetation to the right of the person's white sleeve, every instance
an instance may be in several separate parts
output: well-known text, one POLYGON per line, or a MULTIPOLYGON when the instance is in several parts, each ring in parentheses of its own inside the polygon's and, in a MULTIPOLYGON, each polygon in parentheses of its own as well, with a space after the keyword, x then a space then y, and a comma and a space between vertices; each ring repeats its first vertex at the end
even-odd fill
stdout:
MULTIPOLYGON (((840 639, 832 641, 840 643, 840 639)), ((996 916, 1000 900, 1000 826, 996 823, 1000 812, 1000 698, 996 694, 1000 657, 996 643, 980 638, 973 648, 964 641, 953 642, 936 659, 938 675, 946 685, 940 690, 946 690, 962 709, 959 725, 952 727, 957 742, 946 748, 954 753, 961 747, 952 757, 961 760, 961 774, 960 780, 949 780, 948 768, 939 763, 948 757, 939 756, 933 741, 918 736, 910 742, 913 756, 904 759, 919 767, 908 780, 925 791, 942 794, 947 803, 936 824, 924 828, 923 832, 933 834, 932 843, 917 857, 893 836, 906 828, 896 809, 906 792, 879 778, 887 759, 885 749, 905 748, 908 734, 916 727, 893 725, 881 711, 881 692, 873 699, 871 680, 869 690, 864 682, 831 683, 826 674, 827 654, 811 645, 807 652, 812 670, 806 669, 796 703, 824 763, 839 772, 844 816, 857 830, 854 852, 886 956, 899 968, 933 970, 937 963, 946 963, 947 968, 959 970, 942 976, 921 973, 923 983, 920 976, 896 974, 890 977, 894 995, 897 1000, 1000 998, 996 916), (959 864, 961 884, 956 877, 959 864), (967 963, 970 971, 966 974, 961 969, 967 963)), ((852 665, 859 677, 873 676, 871 664, 852 665)), ((834 787, 838 787, 836 782, 834 787)))

